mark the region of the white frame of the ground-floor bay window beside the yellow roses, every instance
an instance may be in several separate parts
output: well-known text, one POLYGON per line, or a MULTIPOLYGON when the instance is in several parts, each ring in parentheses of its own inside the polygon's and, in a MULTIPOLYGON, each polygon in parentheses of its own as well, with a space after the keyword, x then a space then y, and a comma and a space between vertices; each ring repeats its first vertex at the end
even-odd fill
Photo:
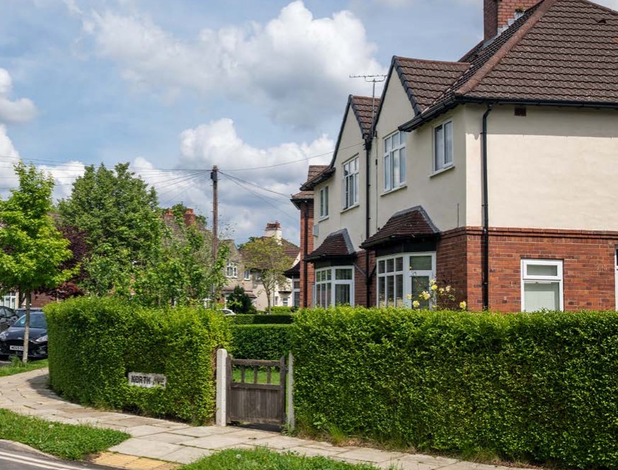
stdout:
MULTIPOLYGON (((395 304, 397 304, 397 297, 398 296, 398 292, 397 292, 397 276, 402 275, 402 279, 403 279, 403 292, 402 292, 402 306, 406 306, 406 307, 412 307, 412 302, 415 300, 419 300, 416 298, 412 297, 412 277, 414 276, 426 276, 429 277, 429 279, 435 279, 436 278, 436 252, 405 252, 405 253, 397 253, 396 255, 388 255, 388 256, 382 256, 382 257, 378 257, 376 259, 376 287, 375 287, 375 292, 376 292, 376 306, 381 306, 380 305, 380 294, 381 294, 381 290, 379 287, 379 283, 380 283, 380 279, 385 279, 384 280, 384 287, 387 287, 387 282, 388 282, 388 277, 394 277, 394 299, 395 299, 395 304), (417 271, 417 270, 413 270, 410 268, 410 259, 412 257, 425 257, 425 256, 431 256, 431 269, 429 270, 423 270, 423 271, 417 271), (402 258, 402 269, 397 269, 397 258, 402 258), (384 269, 384 272, 380 272, 380 262, 384 262, 384 265, 387 265, 389 260, 393 260, 393 265, 394 265, 394 270, 389 272, 387 271, 387 269, 384 269), (410 296, 411 298, 408 299, 408 296, 410 296)), ((427 286, 427 288, 429 289, 429 286, 427 286)), ((387 298, 387 293, 384 294, 384 305, 382 306, 396 306, 396 305, 389 305, 388 303, 388 298, 387 298)), ((433 308, 433 305, 429 304, 429 308, 433 308)))

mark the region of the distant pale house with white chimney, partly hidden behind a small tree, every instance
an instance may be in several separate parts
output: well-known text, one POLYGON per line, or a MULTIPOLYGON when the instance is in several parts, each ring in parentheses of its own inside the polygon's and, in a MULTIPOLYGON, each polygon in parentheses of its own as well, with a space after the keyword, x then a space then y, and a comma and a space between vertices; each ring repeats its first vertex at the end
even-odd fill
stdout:
MULTIPOLYGON (((290 267, 297 264, 300 260, 300 248, 283 238, 283 230, 281 223, 267 223, 263 237, 274 237, 275 240, 283 245, 283 250, 286 256, 292 260, 290 267)), ((230 256, 226 265, 227 282, 223 289, 224 297, 227 297, 234 291, 234 287, 241 286, 245 289, 246 294, 252 299, 253 305, 258 310, 266 310, 268 299, 264 291, 263 283, 261 282, 261 274, 258 271, 248 269, 243 260, 242 248, 239 250, 234 243, 234 240, 225 240, 230 247, 230 256)), ((271 306, 293 306, 293 283, 278 286, 272 294, 271 306)))

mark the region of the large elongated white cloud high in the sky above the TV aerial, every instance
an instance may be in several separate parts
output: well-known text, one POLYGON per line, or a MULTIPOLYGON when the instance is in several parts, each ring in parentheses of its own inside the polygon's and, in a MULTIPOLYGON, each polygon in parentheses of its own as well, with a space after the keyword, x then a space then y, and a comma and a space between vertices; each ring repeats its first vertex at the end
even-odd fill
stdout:
POLYGON ((350 11, 315 18, 300 0, 266 24, 205 28, 192 41, 149 18, 111 11, 85 18, 83 31, 138 88, 225 95, 295 127, 315 127, 340 112, 342 96, 366 92, 349 75, 386 70, 359 18, 350 11))

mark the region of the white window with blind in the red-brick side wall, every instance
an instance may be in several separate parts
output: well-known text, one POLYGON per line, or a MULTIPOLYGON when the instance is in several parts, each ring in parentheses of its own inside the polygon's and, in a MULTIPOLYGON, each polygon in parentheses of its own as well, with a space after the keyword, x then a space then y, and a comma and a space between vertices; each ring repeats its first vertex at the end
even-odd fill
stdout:
POLYGON ((562 260, 521 260, 521 310, 564 310, 562 260))

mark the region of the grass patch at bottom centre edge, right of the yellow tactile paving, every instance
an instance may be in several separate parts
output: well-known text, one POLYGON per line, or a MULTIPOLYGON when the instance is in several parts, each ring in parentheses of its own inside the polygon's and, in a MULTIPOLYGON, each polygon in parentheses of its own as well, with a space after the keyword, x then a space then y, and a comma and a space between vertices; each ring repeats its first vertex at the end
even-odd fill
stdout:
MULTIPOLYGON (((394 468, 394 467, 393 467, 394 468)), ((181 470, 376 470, 368 464, 348 464, 326 457, 303 457, 297 454, 278 454, 267 449, 228 449, 181 470)))

